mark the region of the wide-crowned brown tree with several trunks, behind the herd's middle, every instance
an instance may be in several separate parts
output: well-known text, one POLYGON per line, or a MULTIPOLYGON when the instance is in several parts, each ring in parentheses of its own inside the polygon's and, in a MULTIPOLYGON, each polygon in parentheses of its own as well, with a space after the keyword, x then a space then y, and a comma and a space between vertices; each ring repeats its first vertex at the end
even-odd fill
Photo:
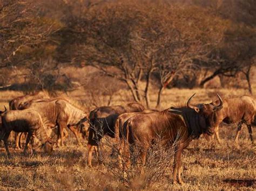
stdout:
POLYGON ((84 23, 87 41, 77 44, 74 60, 125 82, 134 100, 148 107, 153 80, 160 107, 167 84, 193 69, 195 60, 209 59, 227 24, 197 7, 145 2, 105 3, 89 11, 84 23))

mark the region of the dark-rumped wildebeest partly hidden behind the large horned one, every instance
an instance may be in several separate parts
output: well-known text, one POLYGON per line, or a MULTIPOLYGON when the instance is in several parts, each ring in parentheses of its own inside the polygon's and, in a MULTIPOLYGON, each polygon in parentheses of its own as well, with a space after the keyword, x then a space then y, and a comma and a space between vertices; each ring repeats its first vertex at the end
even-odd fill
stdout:
POLYGON ((114 138, 114 124, 120 114, 126 112, 141 112, 145 110, 142 104, 128 103, 125 105, 112 105, 99 107, 90 112, 89 121, 89 138, 88 138, 88 166, 91 165, 92 151, 96 151, 98 155, 98 145, 104 135, 114 138))

